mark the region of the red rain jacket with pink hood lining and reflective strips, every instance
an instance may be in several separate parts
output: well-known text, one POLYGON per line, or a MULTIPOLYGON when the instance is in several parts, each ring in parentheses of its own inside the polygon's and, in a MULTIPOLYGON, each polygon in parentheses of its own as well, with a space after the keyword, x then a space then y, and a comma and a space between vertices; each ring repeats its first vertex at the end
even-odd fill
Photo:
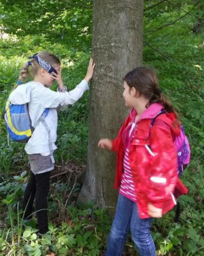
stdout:
MULTIPOLYGON (((140 218, 150 217, 148 203, 161 208, 162 214, 171 210, 176 204, 175 188, 176 196, 188 192, 176 173, 177 156, 172 135, 180 134, 180 125, 175 114, 165 113, 158 116, 149 136, 151 119, 162 108, 161 104, 154 103, 141 114, 130 146, 129 161, 140 218)), ((128 130, 136 114, 135 109, 132 109, 118 136, 112 141, 112 151, 117 156, 114 188, 120 186, 128 130)))

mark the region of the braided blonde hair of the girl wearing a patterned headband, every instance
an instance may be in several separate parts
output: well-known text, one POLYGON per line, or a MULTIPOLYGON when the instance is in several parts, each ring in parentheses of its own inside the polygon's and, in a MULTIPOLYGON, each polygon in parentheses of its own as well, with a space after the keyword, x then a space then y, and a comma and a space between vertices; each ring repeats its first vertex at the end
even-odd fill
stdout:
MULTIPOLYGON (((37 54, 37 56, 39 56, 42 60, 49 63, 49 65, 53 66, 54 68, 56 66, 60 65, 60 63, 61 63, 60 60, 54 54, 49 53, 49 52, 40 52, 40 53, 37 54)), ((32 59, 29 62, 26 62, 22 66, 19 77, 18 77, 18 81, 23 82, 31 74, 36 75, 39 68, 41 68, 35 59, 32 59), (30 62, 31 65, 29 64, 29 62, 30 62)), ((18 86, 18 84, 16 83, 15 86, 14 86, 14 89, 17 86, 18 86)))

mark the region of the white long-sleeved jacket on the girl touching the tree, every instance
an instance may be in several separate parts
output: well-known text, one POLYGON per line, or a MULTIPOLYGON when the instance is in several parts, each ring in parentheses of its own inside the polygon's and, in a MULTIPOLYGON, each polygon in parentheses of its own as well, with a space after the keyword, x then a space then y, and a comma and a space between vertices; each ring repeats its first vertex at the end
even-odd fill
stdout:
MULTIPOLYGON (((34 127, 45 108, 49 108, 45 121, 50 129, 52 148, 56 150, 57 108, 65 109, 68 105, 73 105, 88 89, 88 83, 85 80, 82 80, 75 89, 69 92, 55 92, 42 83, 29 82, 21 84, 13 90, 9 95, 9 100, 16 105, 28 103, 28 112, 34 127)), ((48 131, 42 122, 37 124, 31 138, 25 145, 25 151, 27 154, 49 155, 48 131)))

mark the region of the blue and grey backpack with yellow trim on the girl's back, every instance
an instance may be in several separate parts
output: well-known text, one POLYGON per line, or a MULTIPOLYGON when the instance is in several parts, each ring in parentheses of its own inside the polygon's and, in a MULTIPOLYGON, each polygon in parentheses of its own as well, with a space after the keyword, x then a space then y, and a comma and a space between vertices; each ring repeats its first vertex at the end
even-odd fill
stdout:
POLYGON ((22 105, 14 105, 9 99, 6 102, 5 120, 8 136, 15 142, 28 142, 35 127, 40 121, 44 122, 45 117, 49 113, 46 108, 41 115, 40 120, 32 126, 28 113, 28 103, 22 105))

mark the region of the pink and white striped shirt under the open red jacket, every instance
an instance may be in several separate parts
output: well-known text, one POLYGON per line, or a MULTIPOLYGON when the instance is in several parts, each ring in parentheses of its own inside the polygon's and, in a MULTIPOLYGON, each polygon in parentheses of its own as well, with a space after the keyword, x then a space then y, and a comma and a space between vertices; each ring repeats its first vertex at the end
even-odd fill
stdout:
POLYGON ((133 122, 132 126, 130 127, 130 131, 128 132, 128 143, 125 151, 125 156, 123 159, 124 172, 122 175, 119 193, 123 196, 126 196, 128 199, 132 200, 133 202, 136 202, 134 181, 133 181, 133 176, 131 173, 130 161, 129 161, 129 148, 131 144, 131 139, 134 136, 134 130, 135 130, 135 123, 133 122))

